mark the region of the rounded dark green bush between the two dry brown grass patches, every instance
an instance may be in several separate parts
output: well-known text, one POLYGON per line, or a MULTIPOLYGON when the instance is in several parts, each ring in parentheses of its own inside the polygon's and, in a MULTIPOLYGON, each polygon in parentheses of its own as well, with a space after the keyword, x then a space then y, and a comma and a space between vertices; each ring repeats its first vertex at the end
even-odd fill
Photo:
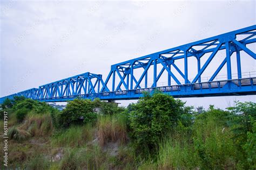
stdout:
POLYGON ((93 123, 97 119, 95 105, 91 100, 75 99, 68 102, 66 108, 59 114, 59 123, 64 127, 83 123, 93 123))

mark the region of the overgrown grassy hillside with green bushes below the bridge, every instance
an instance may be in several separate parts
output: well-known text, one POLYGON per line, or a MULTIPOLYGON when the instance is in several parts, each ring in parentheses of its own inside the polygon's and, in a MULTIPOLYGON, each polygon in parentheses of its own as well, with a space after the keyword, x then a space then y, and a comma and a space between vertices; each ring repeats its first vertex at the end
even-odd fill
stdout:
POLYGON ((154 93, 127 108, 76 99, 59 111, 23 97, 2 108, 2 119, 3 111, 9 119, 9 168, 256 168, 253 102, 205 110, 154 93))

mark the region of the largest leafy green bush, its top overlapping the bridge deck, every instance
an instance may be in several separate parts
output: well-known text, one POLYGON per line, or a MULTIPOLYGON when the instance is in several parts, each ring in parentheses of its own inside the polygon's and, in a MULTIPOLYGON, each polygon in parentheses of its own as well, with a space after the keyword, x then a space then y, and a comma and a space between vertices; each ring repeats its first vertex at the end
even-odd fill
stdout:
POLYGON ((146 94, 138 101, 130 117, 133 144, 138 153, 156 152, 161 138, 177 125, 184 113, 184 104, 161 93, 146 94))

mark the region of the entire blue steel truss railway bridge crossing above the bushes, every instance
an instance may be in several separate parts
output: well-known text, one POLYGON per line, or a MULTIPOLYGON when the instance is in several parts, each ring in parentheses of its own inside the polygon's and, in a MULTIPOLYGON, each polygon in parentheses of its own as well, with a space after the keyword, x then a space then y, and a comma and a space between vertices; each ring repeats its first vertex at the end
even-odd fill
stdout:
POLYGON ((0 103, 14 96, 45 102, 130 100, 155 89, 173 97, 255 95, 255 35, 256 25, 245 27, 114 64, 105 79, 87 72, 2 97, 0 103))

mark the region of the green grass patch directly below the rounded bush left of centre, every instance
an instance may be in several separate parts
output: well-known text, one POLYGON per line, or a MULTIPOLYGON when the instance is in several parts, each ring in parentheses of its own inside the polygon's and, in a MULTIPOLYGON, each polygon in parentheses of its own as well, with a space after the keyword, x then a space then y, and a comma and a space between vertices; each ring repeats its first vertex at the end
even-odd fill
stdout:
POLYGON ((82 147, 93 139, 95 129, 91 124, 71 126, 53 136, 52 145, 57 147, 82 147))

